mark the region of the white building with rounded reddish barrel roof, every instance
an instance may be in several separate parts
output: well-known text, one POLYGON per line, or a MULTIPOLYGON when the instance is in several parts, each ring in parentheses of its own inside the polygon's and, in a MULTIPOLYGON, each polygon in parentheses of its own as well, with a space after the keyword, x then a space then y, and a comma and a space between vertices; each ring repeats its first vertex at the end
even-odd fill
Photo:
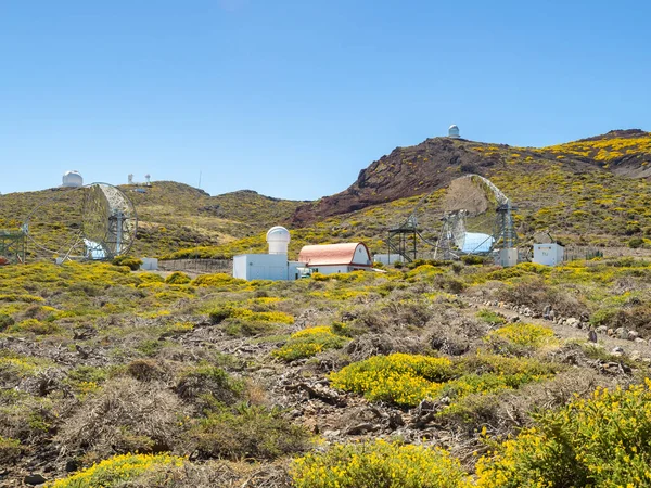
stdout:
POLYGON ((362 242, 304 246, 298 260, 321 274, 370 270, 373 266, 371 253, 362 242))

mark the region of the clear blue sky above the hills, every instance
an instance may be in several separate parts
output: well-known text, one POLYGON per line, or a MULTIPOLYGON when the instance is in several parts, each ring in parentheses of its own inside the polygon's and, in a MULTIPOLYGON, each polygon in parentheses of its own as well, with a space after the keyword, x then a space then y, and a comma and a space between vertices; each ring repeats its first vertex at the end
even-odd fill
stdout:
POLYGON ((395 146, 651 130, 648 1, 0 0, 0 192, 318 198, 395 146))

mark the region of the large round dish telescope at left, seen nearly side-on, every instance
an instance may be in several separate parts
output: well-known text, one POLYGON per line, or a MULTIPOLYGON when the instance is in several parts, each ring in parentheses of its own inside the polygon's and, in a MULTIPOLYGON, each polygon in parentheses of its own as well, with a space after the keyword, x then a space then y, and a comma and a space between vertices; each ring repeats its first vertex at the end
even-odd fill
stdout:
POLYGON ((127 254, 138 229, 131 201, 107 183, 53 189, 27 216, 23 232, 36 256, 113 259, 127 254))

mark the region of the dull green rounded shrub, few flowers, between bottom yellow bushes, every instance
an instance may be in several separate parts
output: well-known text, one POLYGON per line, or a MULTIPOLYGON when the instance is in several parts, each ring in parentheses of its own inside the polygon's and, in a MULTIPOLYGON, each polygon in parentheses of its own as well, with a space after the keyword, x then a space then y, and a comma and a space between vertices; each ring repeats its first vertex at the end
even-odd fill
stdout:
POLYGON ((204 458, 275 459, 308 447, 309 434, 292 425, 278 409, 240 407, 237 412, 209 413, 190 431, 204 458))

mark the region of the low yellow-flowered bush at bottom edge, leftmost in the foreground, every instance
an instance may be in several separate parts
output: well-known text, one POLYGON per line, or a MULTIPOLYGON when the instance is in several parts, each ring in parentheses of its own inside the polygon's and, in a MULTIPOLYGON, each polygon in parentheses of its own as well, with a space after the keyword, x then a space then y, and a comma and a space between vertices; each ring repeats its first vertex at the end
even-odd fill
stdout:
POLYGON ((112 488, 158 466, 181 466, 183 458, 170 454, 122 454, 106 459, 88 470, 46 485, 46 488, 112 488))

